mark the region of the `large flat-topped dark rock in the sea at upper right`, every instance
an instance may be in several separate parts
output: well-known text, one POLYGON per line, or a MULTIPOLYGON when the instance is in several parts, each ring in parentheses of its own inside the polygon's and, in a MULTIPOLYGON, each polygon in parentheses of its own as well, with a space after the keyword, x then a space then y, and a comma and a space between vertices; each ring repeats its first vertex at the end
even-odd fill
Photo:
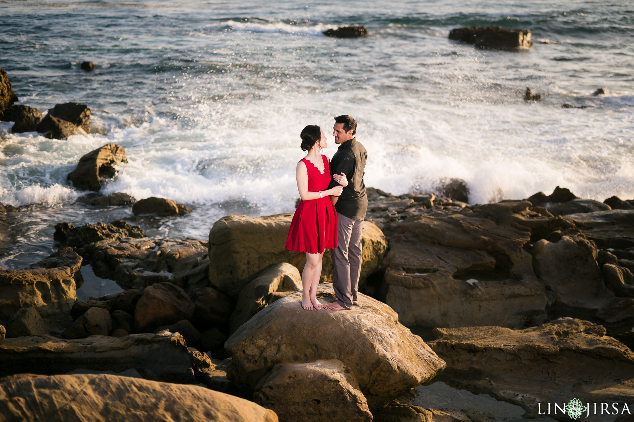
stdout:
POLYGON ((531 31, 526 29, 504 29, 499 25, 455 28, 450 31, 449 39, 474 44, 478 48, 515 49, 533 47, 531 31))

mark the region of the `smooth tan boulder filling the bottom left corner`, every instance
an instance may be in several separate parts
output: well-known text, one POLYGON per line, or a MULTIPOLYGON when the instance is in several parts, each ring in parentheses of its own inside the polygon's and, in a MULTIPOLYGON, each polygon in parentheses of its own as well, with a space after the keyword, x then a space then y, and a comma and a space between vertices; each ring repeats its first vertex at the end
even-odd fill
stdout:
POLYGON ((117 375, 55 375, 0 383, 3 420, 276 422, 273 411, 201 388, 117 375))

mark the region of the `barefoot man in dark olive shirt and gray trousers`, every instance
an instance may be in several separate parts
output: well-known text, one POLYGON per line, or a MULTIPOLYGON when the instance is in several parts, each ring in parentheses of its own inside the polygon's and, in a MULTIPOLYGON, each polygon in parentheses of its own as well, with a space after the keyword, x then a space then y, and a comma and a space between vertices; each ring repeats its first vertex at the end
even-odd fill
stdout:
MULTIPOLYGON (((361 232, 368 209, 365 194, 365 162, 368 152, 354 137, 356 121, 351 116, 335 117, 333 135, 339 148, 330 161, 332 175, 346 175, 348 184, 339 197, 330 196, 337 209, 337 248, 330 251, 333 264, 332 287, 337 301, 325 306, 332 311, 351 309, 357 300, 361 275, 361 232)), ((330 187, 339 183, 334 180, 330 187)), ((328 187, 328 189, 330 189, 328 187)))

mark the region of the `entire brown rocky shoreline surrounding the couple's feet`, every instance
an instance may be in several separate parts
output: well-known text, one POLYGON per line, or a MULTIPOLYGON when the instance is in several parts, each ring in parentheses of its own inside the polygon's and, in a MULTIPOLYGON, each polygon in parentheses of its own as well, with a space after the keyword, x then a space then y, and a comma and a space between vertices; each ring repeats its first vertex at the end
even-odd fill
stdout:
MULTIPOLYGON (((39 111, 13 97, 0 96, 0 108, 18 130, 28 120, 20 116, 37 120, 39 111)), ((81 104, 58 104, 34 125, 62 139, 88 132, 89 116, 81 104)), ((96 192, 92 206, 192 212, 165 198, 99 194, 126 162, 122 147, 107 144, 68 181, 96 192)), ((368 188, 359 305, 345 312, 301 310, 305 258, 284 247, 292 213, 224 216, 210 222, 208 239, 150 239, 133 220, 58 223, 55 253, 0 268, 0 414, 123 421, 129 409, 157 411, 147 406, 154 400, 164 419, 198 402, 183 420, 490 419, 411 404, 418 386, 439 381, 521 406, 525 418, 573 397, 628 404, 634 200, 557 187, 469 205, 461 180, 437 190, 368 188), (125 290, 78 301, 86 265, 125 290), (408 327, 433 329, 435 339, 408 327)), ((28 211, 0 204, 0 248, 13 243, 17 212, 28 211)), ((322 303, 333 301, 330 281, 327 253, 322 303)))

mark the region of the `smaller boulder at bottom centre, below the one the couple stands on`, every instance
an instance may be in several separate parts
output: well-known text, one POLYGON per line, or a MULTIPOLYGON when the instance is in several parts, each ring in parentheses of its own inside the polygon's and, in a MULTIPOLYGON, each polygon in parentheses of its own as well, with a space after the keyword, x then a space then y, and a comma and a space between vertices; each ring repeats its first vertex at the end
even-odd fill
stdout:
POLYGON ((262 378, 254 401, 280 422, 370 422, 372 413, 350 368, 337 359, 282 363, 262 378))

